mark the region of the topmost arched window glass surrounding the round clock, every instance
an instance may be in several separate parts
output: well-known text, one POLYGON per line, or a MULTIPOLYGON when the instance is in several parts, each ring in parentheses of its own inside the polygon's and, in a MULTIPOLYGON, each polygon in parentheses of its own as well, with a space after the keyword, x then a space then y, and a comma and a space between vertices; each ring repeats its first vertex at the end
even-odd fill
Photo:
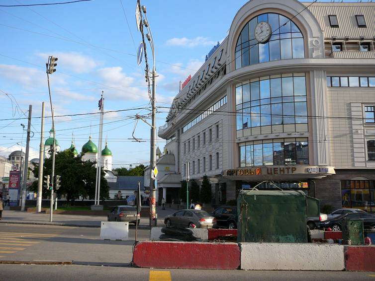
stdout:
POLYGON ((264 62, 304 58, 303 36, 299 28, 287 17, 265 13, 251 19, 238 37, 235 51, 236 69, 264 62), (266 21, 271 25, 270 40, 261 44, 255 39, 255 27, 266 21))

